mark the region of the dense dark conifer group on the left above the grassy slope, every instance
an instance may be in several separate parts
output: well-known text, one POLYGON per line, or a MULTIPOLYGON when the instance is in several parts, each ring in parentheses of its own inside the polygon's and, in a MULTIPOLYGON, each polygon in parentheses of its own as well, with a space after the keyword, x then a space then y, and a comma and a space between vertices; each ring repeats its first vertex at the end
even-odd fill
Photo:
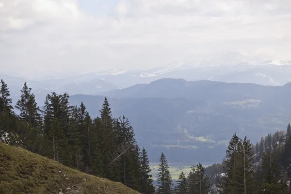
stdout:
POLYGON ((82 172, 122 182, 143 194, 155 192, 146 149, 137 145, 125 116, 113 118, 106 97, 100 116, 92 118, 83 103, 80 107, 71 106, 66 93, 48 94, 40 109, 25 82, 13 107, 3 80, 0 87, 2 142, 82 172))

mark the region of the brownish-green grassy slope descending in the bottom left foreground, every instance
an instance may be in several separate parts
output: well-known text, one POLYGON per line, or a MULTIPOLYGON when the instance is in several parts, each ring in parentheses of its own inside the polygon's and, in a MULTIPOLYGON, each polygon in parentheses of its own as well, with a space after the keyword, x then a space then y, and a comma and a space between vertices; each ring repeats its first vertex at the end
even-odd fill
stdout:
POLYGON ((139 194, 22 148, 0 143, 0 194, 139 194), (61 192, 61 193, 60 193, 61 192))

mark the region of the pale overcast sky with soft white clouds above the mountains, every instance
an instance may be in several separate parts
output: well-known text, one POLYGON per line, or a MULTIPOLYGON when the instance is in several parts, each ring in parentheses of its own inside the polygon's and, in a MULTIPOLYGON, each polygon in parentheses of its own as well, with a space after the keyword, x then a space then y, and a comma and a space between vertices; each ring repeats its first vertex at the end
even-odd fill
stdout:
POLYGON ((291 59, 291 0, 0 0, 3 72, 151 68, 226 51, 291 59))

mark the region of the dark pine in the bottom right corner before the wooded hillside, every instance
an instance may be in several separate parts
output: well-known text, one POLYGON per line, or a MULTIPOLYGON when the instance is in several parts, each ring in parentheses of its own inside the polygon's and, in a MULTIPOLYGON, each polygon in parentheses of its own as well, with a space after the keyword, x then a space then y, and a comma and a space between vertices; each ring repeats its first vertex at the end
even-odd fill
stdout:
POLYGON ((263 154, 262 159, 262 182, 260 184, 260 194, 285 194, 288 191, 287 184, 280 177, 277 157, 271 148, 263 154))

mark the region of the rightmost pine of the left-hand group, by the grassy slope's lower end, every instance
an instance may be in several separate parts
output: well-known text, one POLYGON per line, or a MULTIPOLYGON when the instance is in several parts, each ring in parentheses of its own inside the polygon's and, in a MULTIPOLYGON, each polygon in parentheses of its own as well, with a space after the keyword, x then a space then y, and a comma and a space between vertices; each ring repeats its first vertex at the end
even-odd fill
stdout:
POLYGON ((153 186, 152 175, 149 174, 151 170, 149 167, 149 161, 145 147, 143 147, 139 160, 141 164, 140 167, 141 193, 154 194, 155 188, 153 186))

